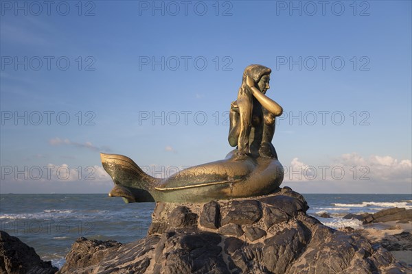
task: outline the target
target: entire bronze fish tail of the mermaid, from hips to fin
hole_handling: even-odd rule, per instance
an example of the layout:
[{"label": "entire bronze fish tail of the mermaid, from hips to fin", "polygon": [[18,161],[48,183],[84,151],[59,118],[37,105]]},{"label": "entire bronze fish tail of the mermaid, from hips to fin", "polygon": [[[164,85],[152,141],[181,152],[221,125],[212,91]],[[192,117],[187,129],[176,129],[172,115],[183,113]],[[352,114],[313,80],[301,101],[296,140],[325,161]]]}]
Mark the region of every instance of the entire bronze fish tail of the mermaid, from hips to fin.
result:
[{"label": "entire bronze fish tail of the mermaid, from hips to fin", "polygon": [[101,153],[104,169],[115,187],[109,196],[128,202],[165,201],[198,203],[267,195],[279,188],[284,177],[282,164],[275,158],[239,158],[236,150],[225,160],[192,166],[157,179],[142,171],[133,160]]}]

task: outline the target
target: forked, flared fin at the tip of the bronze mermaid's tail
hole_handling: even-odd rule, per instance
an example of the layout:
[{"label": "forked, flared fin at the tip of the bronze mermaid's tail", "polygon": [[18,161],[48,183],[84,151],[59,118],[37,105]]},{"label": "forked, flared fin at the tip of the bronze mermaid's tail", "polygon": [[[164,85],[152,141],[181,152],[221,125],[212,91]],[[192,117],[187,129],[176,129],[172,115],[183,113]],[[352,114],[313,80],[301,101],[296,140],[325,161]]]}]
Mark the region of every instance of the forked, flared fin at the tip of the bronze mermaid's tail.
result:
[{"label": "forked, flared fin at the tip of the bronze mermaid's tail", "polygon": [[108,194],[123,197],[126,203],[155,201],[155,187],[161,179],[146,174],[124,155],[100,153],[104,170],[111,176],[115,187]]}]

